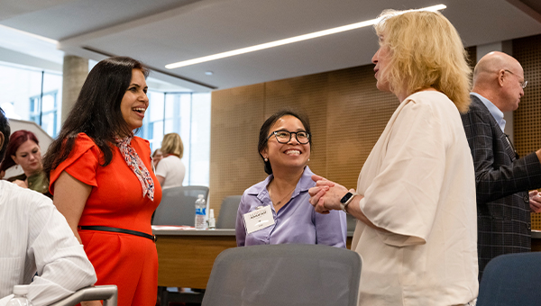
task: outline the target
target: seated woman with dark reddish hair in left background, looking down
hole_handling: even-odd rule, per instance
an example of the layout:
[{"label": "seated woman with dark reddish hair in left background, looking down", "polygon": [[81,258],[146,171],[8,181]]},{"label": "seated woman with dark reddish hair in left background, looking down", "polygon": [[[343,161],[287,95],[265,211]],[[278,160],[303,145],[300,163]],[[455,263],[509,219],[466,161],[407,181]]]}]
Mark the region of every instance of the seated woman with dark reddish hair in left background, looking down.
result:
[{"label": "seated woman with dark reddish hair in left background, looking down", "polygon": [[0,172],[5,172],[11,166],[19,165],[22,175],[6,178],[23,188],[29,188],[49,197],[49,179],[43,172],[41,163],[40,141],[30,130],[17,130],[9,138],[5,158],[0,164]]}]

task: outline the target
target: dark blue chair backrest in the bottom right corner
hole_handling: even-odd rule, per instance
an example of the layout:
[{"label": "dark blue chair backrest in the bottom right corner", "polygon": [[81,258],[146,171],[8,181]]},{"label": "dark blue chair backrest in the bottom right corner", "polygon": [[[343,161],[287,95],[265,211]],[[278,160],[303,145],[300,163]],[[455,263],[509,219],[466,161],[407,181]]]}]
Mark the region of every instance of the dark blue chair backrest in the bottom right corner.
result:
[{"label": "dark blue chair backrest in the bottom right corner", "polygon": [[501,255],[485,267],[477,306],[540,303],[541,252]]}]

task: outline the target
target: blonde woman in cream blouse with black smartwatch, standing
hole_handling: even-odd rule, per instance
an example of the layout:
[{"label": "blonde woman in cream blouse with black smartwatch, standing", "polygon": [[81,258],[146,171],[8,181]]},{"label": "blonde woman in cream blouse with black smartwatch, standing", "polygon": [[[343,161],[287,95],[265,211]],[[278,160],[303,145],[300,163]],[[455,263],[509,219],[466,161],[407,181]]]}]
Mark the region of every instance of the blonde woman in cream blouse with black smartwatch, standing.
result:
[{"label": "blonde woman in cream blouse with black smartwatch, standing", "polygon": [[357,190],[314,175],[310,202],[357,219],[360,305],[469,304],[479,284],[475,173],[459,113],[470,104],[462,41],[435,12],[384,12],[375,28],[377,87],[399,107]]}]

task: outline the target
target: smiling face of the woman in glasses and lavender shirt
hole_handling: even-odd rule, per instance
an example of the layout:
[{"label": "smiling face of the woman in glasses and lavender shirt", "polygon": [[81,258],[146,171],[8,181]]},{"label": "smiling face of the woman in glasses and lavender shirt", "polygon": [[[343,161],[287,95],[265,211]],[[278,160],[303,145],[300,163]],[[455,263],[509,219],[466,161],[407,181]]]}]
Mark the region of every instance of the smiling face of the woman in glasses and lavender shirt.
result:
[{"label": "smiling face of the woman in glasses and lavender shirt", "polygon": [[[269,135],[275,130],[299,131],[305,130],[304,125],[298,118],[285,115],[272,124]],[[298,171],[302,170],[307,165],[310,157],[310,144],[300,144],[295,137],[296,134],[291,134],[291,139],[288,143],[280,143],[274,135],[267,140],[267,146],[261,150],[261,156],[269,158],[272,166],[272,172],[280,171]]]}]

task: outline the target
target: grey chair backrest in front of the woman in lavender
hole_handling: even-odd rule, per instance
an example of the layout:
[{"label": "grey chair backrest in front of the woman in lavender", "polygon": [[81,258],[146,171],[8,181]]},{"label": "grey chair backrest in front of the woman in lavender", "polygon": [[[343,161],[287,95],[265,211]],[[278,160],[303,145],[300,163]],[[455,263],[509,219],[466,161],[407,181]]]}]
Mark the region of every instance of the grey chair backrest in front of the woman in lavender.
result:
[{"label": "grey chair backrest in front of the woman in lavender", "polygon": [[362,259],[324,245],[234,247],[220,253],[203,306],[357,305]]}]

